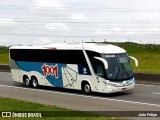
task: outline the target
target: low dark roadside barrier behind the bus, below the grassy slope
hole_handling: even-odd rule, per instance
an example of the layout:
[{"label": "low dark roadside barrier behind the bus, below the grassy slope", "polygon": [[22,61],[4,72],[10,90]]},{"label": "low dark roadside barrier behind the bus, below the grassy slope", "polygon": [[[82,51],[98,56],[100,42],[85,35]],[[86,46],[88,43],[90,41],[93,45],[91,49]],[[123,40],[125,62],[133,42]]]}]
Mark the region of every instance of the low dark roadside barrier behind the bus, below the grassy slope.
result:
[{"label": "low dark roadside barrier behind the bus, below the grassy slope", "polygon": [[[0,72],[10,72],[9,65],[0,65]],[[160,74],[135,73],[136,83],[160,85]]]}]

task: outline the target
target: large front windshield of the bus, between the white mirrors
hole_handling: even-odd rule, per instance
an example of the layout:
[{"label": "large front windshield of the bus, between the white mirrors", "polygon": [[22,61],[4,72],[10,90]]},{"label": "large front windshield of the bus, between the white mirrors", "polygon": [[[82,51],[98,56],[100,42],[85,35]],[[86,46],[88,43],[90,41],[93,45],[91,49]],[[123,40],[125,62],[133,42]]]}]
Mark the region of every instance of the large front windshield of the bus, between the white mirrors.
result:
[{"label": "large front windshield of the bus, between the white mirrors", "polygon": [[102,57],[108,62],[107,79],[120,81],[133,77],[132,65],[126,53],[103,54]]}]

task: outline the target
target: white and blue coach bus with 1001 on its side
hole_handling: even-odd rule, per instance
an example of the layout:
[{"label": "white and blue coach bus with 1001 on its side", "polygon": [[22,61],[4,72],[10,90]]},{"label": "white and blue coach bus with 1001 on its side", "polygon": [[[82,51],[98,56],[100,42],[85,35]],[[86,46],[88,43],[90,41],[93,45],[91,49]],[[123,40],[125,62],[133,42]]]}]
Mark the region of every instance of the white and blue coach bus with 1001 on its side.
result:
[{"label": "white and blue coach bus with 1001 on its side", "polygon": [[10,47],[13,81],[27,87],[52,86],[91,92],[115,93],[133,89],[134,73],[127,52],[98,43],[55,43]]}]

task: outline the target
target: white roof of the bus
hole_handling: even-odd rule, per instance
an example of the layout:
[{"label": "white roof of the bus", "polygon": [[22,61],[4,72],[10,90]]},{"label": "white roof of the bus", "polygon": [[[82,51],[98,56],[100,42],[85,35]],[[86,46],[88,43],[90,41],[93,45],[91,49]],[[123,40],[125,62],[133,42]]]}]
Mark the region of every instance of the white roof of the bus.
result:
[{"label": "white roof of the bus", "polygon": [[123,48],[102,43],[53,43],[50,45],[12,46],[10,49],[90,50],[98,53],[126,53]]}]

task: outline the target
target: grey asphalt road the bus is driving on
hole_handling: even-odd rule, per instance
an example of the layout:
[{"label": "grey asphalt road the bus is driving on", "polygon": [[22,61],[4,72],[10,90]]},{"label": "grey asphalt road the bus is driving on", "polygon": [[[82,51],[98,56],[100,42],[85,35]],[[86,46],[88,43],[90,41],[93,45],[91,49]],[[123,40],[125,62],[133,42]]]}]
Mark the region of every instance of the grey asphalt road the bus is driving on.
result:
[{"label": "grey asphalt road the bus is driving on", "polygon": [[[0,97],[14,98],[81,111],[154,111],[160,116],[160,86],[137,84],[135,89],[115,94],[84,95],[81,91],[14,83],[10,73],[0,72]],[[158,112],[159,111],[159,112]],[[128,112],[126,114],[133,114]],[[133,119],[143,119],[138,117]],[[124,116],[124,117],[127,117]],[[144,118],[146,120],[146,118]],[[151,119],[151,118],[148,118]],[[153,118],[152,118],[153,119]],[[154,118],[159,119],[159,118]]]}]

